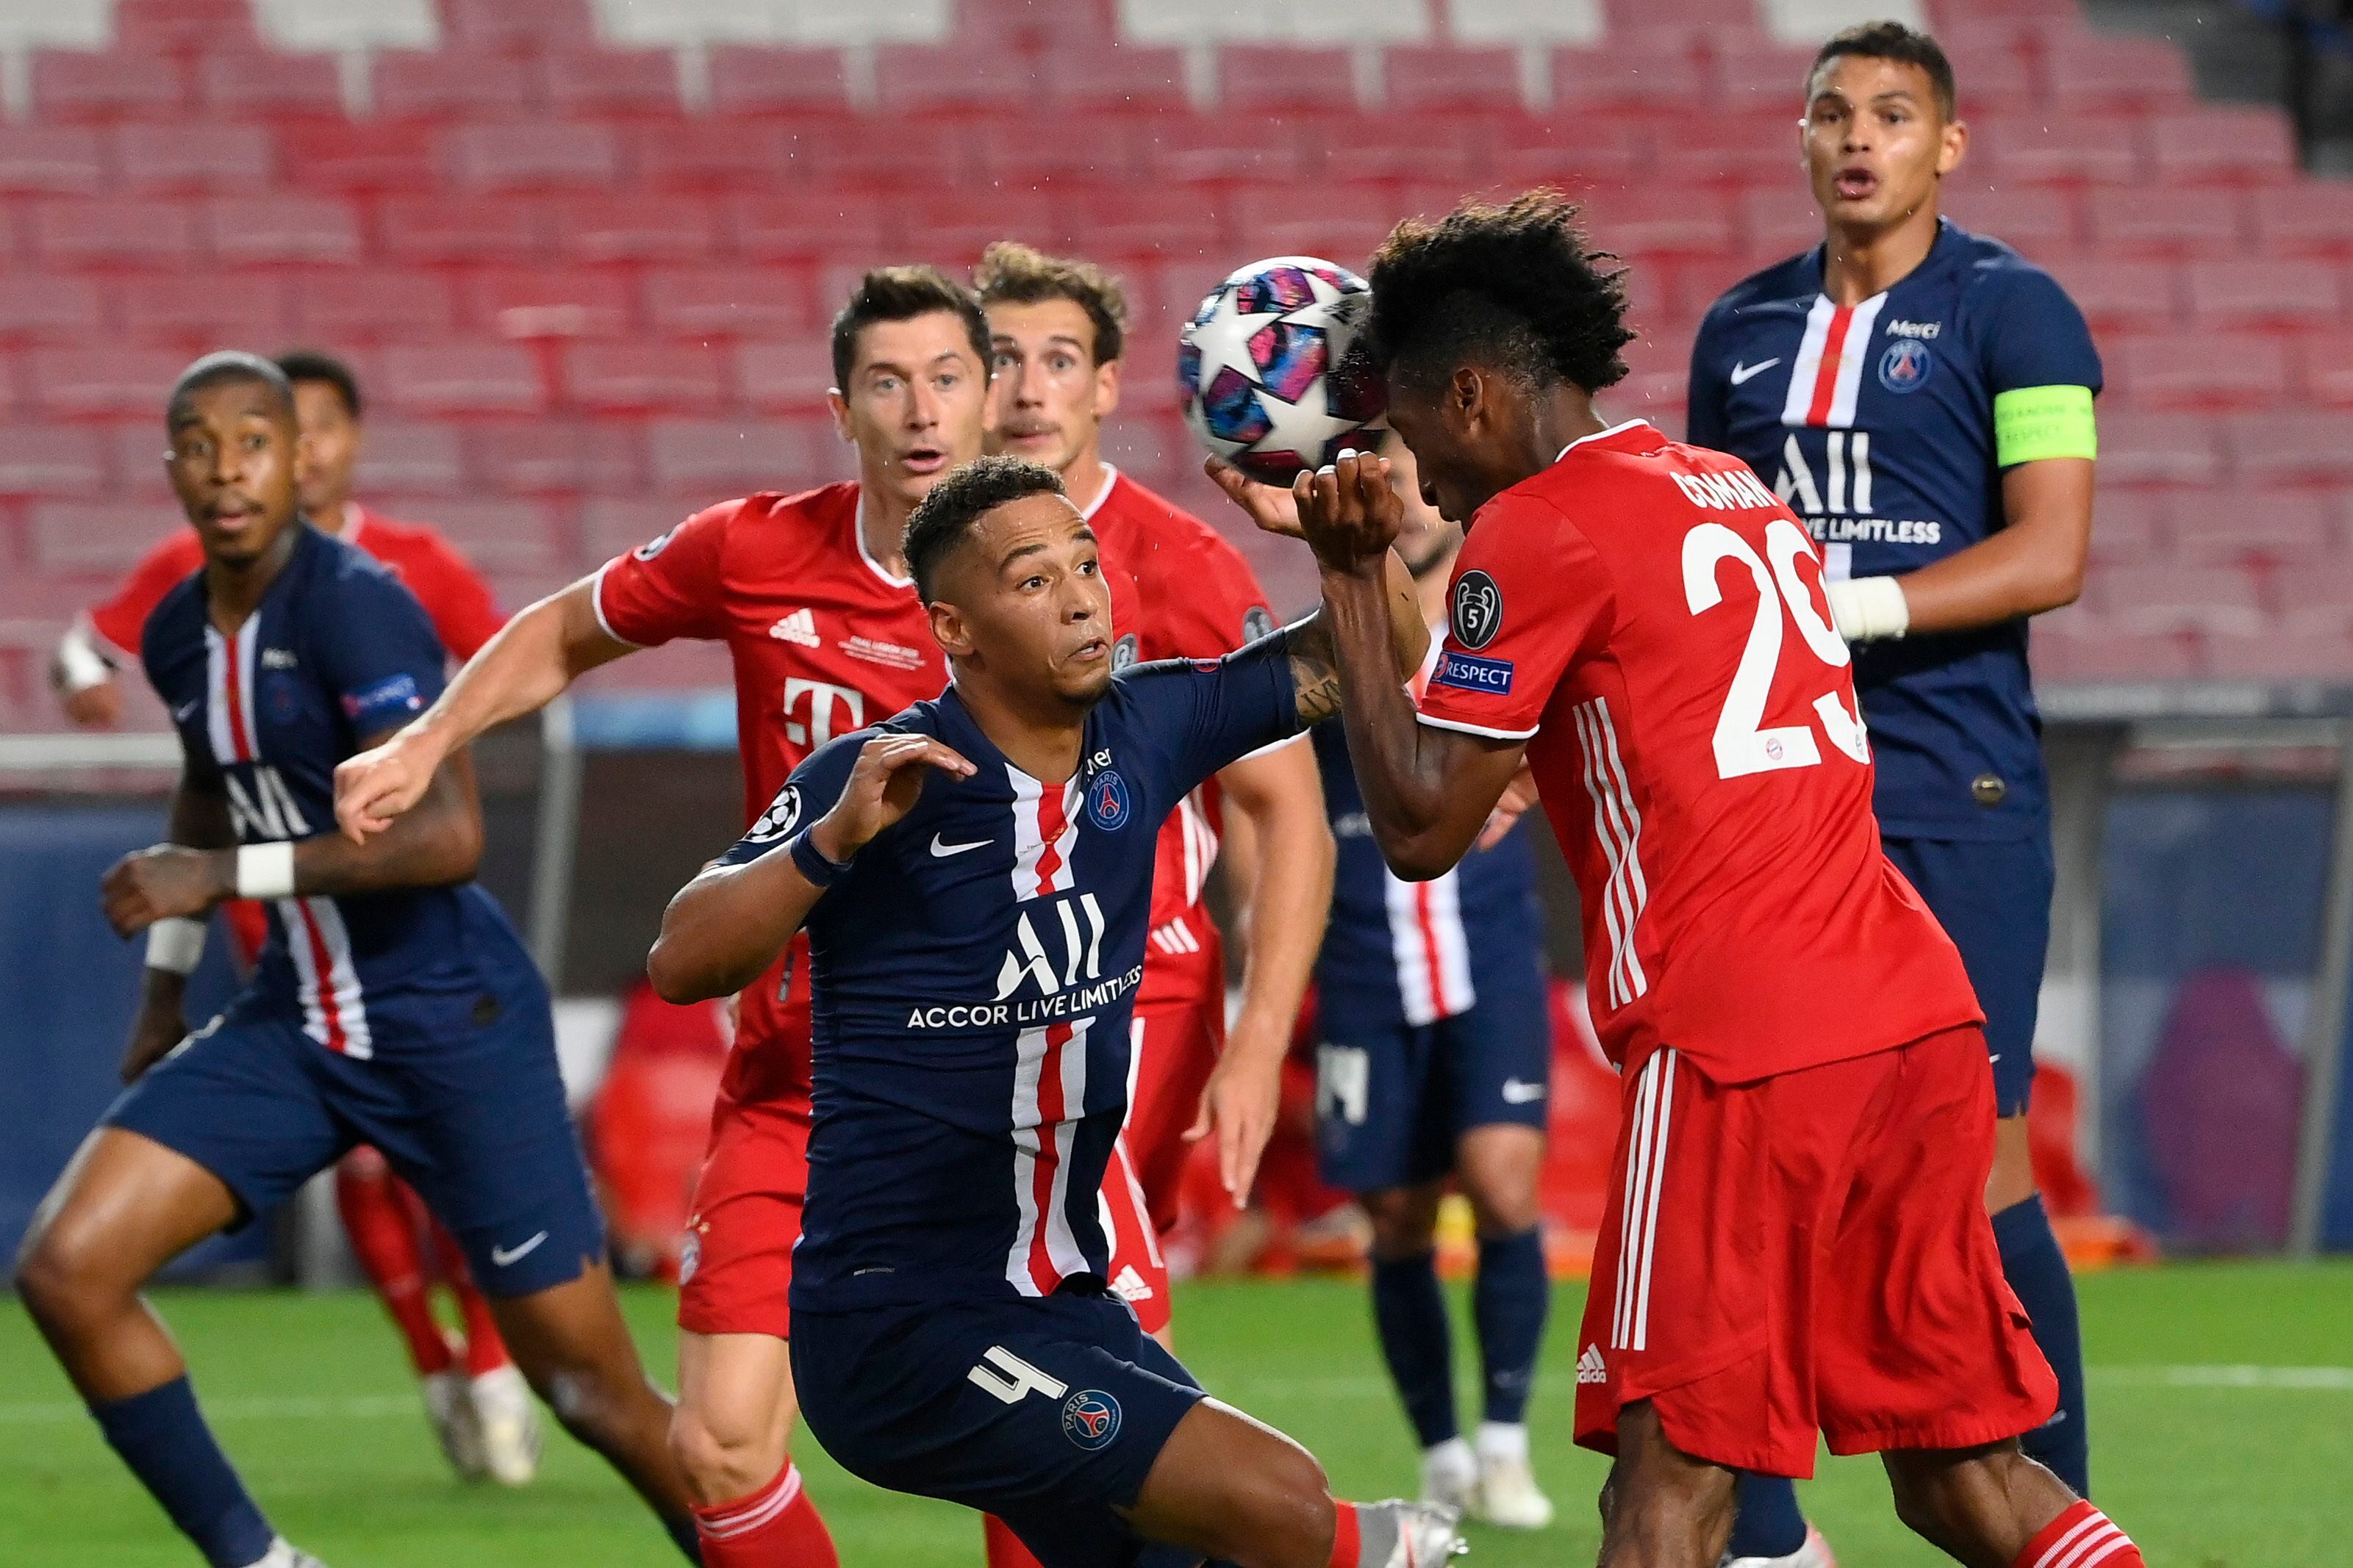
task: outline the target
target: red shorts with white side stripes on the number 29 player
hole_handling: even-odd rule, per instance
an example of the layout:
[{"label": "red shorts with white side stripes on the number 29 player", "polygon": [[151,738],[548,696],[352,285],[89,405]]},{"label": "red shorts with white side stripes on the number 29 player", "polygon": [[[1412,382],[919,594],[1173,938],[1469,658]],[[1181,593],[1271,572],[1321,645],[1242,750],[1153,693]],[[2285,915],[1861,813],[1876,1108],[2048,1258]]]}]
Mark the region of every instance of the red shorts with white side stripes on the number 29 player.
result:
[{"label": "red shorts with white side stripes on the number 29 player", "polygon": [[1652,1401],[1675,1448],[1774,1476],[1831,1453],[1967,1448],[2059,1385],[1986,1220],[1993,1072],[1977,1025],[1715,1084],[1680,1051],[1626,1079],[1577,1356],[1577,1441]]}]

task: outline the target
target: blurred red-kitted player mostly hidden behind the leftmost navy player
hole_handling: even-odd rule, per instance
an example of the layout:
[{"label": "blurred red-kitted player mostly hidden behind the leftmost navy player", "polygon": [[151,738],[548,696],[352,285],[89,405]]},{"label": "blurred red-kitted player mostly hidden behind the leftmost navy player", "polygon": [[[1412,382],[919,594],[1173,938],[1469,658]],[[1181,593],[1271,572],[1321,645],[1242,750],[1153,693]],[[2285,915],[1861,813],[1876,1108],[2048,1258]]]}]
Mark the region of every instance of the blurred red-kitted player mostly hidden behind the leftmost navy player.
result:
[{"label": "blurred red-kitted player mostly hidden behind the leftmost navy player", "polygon": [[[304,520],[384,562],[426,607],[442,646],[456,658],[499,630],[489,583],[431,527],[395,522],[351,498],[351,475],[365,447],[360,383],[341,360],[313,350],[278,355],[294,383],[301,421],[296,487]],[[59,642],[52,675],[66,717],[104,729],[122,715],[118,668],[136,663],[139,630],[155,604],[205,564],[193,529],[172,529],[132,567],[111,599],[82,611]],[[252,969],[268,922],[261,905],[221,907],[235,943],[240,976]],[[334,1206],[344,1215],[351,1253],[391,1314],[416,1371],[449,1465],[466,1479],[492,1476],[522,1486],[539,1469],[539,1415],[529,1389],[506,1354],[489,1302],[466,1274],[466,1258],[424,1201],[393,1175],[384,1157],[358,1147],[334,1168]],[[433,1312],[433,1288],[449,1291],[464,1331]]]}]

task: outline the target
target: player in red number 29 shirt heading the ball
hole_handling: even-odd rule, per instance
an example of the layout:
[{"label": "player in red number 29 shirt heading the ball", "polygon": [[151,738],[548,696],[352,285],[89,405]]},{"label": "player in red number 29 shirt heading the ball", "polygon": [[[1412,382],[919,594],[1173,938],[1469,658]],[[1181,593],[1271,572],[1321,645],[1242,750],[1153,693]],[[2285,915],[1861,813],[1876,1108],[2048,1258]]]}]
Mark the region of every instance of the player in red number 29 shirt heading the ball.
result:
[{"label": "player in red number 29 shirt heading the ball", "polygon": [[1372,263],[1391,423],[1471,527],[1419,715],[1388,663],[1386,465],[1297,508],[1391,867],[1454,865],[1525,752],[1584,893],[1626,1079],[1577,1359],[1577,1439],[1617,1455],[1600,1561],[1713,1566],[1734,1469],[1812,1474],[1826,1434],[1878,1450],[1960,1561],[2139,1566],[2017,1443],[2057,1382],[1984,1211],[1981,1013],[1880,851],[1821,562],[1739,458],[1595,416],[1633,334],[1574,212],[1466,205]]}]

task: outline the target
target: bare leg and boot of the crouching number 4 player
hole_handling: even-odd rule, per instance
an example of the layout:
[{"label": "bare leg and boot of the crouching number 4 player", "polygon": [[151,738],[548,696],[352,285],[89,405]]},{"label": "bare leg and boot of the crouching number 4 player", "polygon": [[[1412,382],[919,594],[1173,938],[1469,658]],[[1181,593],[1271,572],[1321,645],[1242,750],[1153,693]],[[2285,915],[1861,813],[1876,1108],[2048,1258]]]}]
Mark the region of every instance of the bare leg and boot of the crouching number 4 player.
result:
[{"label": "bare leg and boot of the crouching number 4 player", "polygon": [[1214,1399],[1176,1422],[1127,1519],[1235,1568],[1435,1568],[1457,1544],[1454,1509],[1339,1502],[1315,1455]]}]

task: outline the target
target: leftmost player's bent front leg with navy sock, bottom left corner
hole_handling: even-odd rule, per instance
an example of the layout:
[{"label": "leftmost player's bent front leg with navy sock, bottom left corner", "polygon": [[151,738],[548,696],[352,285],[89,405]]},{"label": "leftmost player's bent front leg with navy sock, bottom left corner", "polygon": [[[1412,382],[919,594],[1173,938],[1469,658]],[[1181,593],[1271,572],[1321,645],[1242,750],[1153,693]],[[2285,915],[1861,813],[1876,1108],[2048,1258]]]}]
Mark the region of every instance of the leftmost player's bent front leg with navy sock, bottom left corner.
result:
[{"label": "leftmost player's bent front leg with navy sock, bottom left corner", "polygon": [[308,1563],[275,1537],[188,1389],[172,1333],[139,1298],[165,1262],[238,1218],[212,1171],[99,1128],[42,1199],[16,1293],[106,1441],[214,1563]]}]

